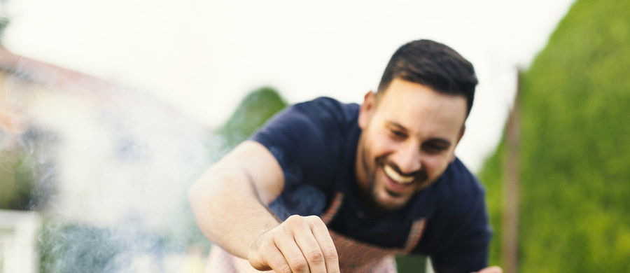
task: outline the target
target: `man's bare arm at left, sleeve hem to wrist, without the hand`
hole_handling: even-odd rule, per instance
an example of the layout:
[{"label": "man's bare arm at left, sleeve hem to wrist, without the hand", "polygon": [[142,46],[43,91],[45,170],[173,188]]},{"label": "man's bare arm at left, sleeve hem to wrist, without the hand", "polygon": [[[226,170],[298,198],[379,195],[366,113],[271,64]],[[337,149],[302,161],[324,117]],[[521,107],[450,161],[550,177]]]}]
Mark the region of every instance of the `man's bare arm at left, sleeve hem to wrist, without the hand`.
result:
[{"label": "man's bare arm at left, sleeve hem to wrist, without the hand", "polygon": [[207,169],[188,193],[204,235],[241,258],[255,237],[279,225],[264,204],[279,195],[283,174],[265,151],[254,142],[241,144]]}]

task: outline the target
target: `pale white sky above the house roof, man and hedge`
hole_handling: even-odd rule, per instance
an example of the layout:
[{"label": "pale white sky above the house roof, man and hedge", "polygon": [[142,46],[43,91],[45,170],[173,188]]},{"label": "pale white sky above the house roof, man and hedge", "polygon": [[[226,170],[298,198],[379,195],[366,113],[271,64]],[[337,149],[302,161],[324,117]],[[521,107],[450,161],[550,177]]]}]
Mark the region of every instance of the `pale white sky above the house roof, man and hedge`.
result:
[{"label": "pale white sky above the house roof, man and hedge", "polygon": [[251,90],[289,103],[362,102],[391,54],[429,38],[469,59],[479,85],[456,154],[473,172],[500,140],[517,69],[572,0],[8,0],[12,52],[113,80],[217,127]]}]

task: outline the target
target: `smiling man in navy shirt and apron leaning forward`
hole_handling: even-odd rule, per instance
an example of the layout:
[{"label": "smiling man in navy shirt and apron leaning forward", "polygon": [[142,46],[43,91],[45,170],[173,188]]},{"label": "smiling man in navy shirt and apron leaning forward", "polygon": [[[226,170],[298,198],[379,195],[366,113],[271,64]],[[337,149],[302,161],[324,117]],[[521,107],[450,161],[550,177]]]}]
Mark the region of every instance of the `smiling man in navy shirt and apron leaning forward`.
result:
[{"label": "smiling man in navy shirt and apron leaning forward", "polygon": [[437,272],[486,267],[484,190],[454,155],[475,85],[457,52],[413,41],[360,106],[275,116],[190,188],[209,271],[395,272],[393,255],[413,254]]}]

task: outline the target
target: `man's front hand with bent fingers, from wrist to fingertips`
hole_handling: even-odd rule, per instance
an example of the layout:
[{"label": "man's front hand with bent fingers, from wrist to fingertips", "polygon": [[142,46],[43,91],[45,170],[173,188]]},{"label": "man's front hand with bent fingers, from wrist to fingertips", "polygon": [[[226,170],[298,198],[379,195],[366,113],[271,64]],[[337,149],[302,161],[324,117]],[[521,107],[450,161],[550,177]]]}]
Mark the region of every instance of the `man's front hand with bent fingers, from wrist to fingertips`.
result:
[{"label": "man's front hand with bent fingers, from wrist to fingertips", "polygon": [[255,269],[339,273],[339,257],[328,228],[317,216],[290,216],[255,239],[247,255]]}]

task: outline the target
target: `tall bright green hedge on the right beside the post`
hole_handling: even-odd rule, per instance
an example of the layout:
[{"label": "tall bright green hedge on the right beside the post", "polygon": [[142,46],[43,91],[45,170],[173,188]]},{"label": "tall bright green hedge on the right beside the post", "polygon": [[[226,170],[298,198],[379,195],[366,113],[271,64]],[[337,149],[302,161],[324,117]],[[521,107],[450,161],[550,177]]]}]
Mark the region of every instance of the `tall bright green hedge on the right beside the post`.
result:
[{"label": "tall bright green hedge on the right beside the post", "polygon": [[627,67],[630,2],[578,0],[524,74],[519,271],[630,272]]}]

